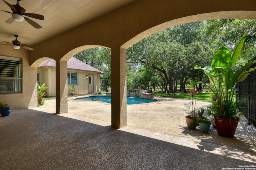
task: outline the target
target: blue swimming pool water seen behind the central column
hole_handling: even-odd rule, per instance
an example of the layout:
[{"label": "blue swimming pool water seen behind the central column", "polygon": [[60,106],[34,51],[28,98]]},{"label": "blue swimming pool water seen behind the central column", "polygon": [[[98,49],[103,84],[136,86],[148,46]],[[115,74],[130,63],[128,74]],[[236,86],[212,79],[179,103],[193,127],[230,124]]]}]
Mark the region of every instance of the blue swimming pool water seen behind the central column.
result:
[{"label": "blue swimming pool water seen behind the central column", "polygon": [[[111,97],[110,96],[90,96],[86,98],[78,98],[75,100],[90,100],[90,101],[100,101],[106,102],[111,104]],[[156,102],[156,100],[149,100],[149,99],[142,99],[137,97],[127,97],[127,104],[143,104],[143,103],[150,103]]]}]

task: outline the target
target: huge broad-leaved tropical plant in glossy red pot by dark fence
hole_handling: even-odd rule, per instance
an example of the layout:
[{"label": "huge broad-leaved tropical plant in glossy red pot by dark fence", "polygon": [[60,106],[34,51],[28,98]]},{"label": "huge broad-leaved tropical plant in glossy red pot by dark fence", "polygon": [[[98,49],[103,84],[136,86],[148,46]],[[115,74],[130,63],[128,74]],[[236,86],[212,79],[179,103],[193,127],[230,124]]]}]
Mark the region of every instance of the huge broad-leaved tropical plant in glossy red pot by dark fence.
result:
[{"label": "huge broad-leaved tropical plant in glossy red pot by dark fence", "polygon": [[218,135],[224,137],[234,137],[239,117],[243,114],[239,111],[243,101],[236,101],[236,87],[238,82],[242,82],[250,74],[256,70],[256,67],[250,68],[256,60],[248,61],[244,66],[241,66],[236,72],[231,71],[231,66],[236,64],[238,56],[244,45],[247,35],[244,34],[232,54],[222,46],[214,54],[211,66],[200,68],[195,66],[195,69],[202,69],[210,80],[210,85],[207,85],[211,92],[216,97],[216,102],[212,103],[210,109],[214,116]]}]

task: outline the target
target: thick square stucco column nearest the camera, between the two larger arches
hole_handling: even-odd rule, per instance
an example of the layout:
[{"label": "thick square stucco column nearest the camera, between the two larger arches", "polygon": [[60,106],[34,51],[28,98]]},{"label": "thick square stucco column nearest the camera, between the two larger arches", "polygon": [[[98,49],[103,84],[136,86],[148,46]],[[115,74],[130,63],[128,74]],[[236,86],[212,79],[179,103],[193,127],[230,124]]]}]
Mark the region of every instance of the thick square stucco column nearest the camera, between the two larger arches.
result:
[{"label": "thick square stucco column nearest the camera, between the two larger arches", "polygon": [[127,124],[126,115],[126,49],[111,49],[111,127]]}]

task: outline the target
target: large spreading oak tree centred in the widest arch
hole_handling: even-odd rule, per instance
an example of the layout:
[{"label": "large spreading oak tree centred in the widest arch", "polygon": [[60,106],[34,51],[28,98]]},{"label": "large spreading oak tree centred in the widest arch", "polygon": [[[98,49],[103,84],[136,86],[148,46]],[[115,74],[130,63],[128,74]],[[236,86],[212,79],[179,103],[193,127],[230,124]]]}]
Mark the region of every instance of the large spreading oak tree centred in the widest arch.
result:
[{"label": "large spreading oak tree centred in the widest arch", "polygon": [[158,70],[169,85],[169,94],[175,94],[178,80],[185,87],[189,76],[184,74],[186,70],[197,63],[211,62],[208,56],[213,50],[203,26],[204,22],[195,22],[165,29],[134,44],[127,55],[134,63]]}]

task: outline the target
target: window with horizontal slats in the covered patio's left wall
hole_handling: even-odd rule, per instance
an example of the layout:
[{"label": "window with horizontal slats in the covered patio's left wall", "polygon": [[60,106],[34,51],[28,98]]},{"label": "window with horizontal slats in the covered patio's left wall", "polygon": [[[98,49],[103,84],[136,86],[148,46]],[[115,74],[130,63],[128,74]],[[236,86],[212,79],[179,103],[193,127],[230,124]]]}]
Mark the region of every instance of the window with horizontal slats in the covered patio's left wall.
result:
[{"label": "window with horizontal slats in the covered patio's left wall", "polygon": [[22,59],[0,55],[0,94],[22,93]]}]

